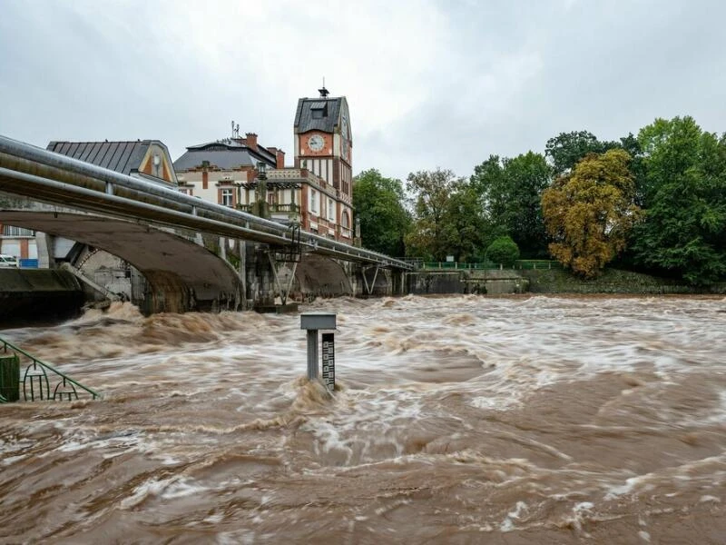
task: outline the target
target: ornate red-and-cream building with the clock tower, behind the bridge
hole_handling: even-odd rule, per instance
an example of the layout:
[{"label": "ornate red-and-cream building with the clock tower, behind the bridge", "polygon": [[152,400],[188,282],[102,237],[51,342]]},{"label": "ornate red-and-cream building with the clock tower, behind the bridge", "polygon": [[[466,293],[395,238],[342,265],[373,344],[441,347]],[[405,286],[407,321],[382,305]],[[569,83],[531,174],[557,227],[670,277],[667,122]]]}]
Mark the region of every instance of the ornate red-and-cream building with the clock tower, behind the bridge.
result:
[{"label": "ornate red-and-cream building with the clock tower, behind the bridge", "polygon": [[[212,203],[252,212],[264,201],[270,218],[299,223],[312,233],[352,242],[352,138],[345,97],[300,98],[295,114],[295,166],[285,153],[264,147],[258,135],[187,148],[174,162],[180,191]],[[260,163],[265,167],[264,183]],[[264,194],[260,194],[260,192]]]}]

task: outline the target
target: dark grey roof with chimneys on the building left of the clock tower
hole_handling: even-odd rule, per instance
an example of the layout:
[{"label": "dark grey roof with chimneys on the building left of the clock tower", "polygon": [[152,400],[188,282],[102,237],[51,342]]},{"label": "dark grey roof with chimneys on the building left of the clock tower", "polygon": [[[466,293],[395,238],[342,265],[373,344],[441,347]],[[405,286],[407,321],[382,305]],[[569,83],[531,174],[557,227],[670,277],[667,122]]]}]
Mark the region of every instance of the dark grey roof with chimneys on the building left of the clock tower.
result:
[{"label": "dark grey roof with chimneys on the building left of the clock tower", "polygon": [[258,146],[255,150],[230,139],[188,147],[187,151],[174,161],[174,170],[180,172],[197,168],[204,161],[209,161],[210,165],[222,170],[236,170],[243,166],[256,166],[260,161],[274,167],[277,158],[266,148]]}]

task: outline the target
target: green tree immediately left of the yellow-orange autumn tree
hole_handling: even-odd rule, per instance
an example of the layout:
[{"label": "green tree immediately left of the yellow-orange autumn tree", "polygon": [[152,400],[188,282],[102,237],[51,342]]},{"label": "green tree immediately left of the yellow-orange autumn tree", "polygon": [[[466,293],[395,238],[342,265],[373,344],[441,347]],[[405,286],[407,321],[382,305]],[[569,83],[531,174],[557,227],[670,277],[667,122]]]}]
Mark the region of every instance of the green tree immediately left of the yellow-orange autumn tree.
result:
[{"label": "green tree immediately left of the yellow-orange autumn tree", "polygon": [[528,152],[514,158],[491,155],[475,167],[471,184],[479,193],[488,233],[509,234],[530,257],[546,253],[541,197],[550,183],[544,156]]}]

